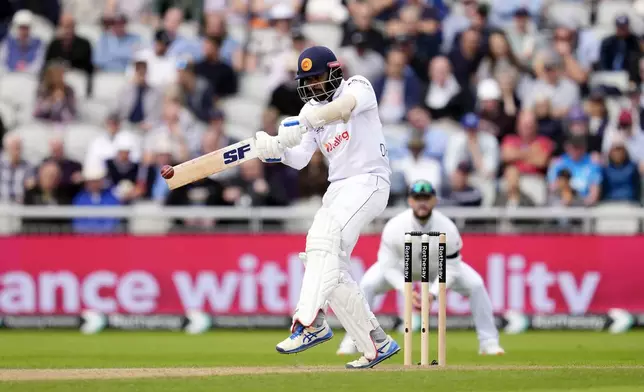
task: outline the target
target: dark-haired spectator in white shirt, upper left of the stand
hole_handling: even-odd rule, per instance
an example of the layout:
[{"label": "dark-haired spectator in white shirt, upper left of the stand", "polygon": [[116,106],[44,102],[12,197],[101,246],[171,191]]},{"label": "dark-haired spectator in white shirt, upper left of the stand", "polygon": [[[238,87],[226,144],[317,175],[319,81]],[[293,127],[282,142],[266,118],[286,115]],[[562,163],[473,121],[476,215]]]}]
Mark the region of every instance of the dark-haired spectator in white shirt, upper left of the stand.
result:
[{"label": "dark-haired spectator in white shirt, upper left of the stand", "polygon": [[126,76],[132,78],[136,65],[144,62],[146,67],[147,84],[153,88],[165,88],[177,80],[177,59],[168,54],[170,36],[165,30],[154,33],[153,49],[144,49],[134,55],[134,62],[126,71]]}]

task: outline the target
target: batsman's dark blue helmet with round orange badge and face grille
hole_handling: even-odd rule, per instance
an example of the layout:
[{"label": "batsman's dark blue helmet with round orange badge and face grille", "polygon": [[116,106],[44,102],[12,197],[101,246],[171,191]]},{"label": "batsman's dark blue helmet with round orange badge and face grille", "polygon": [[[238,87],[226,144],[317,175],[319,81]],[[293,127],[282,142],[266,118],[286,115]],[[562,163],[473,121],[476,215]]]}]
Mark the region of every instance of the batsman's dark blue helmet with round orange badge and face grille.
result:
[{"label": "batsman's dark blue helmet with round orange badge and face grille", "polygon": [[[322,75],[327,75],[326,80],[319,80]],[[304,103],[311,99],[328,101],[340,87],[343,78],[342,65],[326,46],[307,48],[297,60],[297,93]]]}]

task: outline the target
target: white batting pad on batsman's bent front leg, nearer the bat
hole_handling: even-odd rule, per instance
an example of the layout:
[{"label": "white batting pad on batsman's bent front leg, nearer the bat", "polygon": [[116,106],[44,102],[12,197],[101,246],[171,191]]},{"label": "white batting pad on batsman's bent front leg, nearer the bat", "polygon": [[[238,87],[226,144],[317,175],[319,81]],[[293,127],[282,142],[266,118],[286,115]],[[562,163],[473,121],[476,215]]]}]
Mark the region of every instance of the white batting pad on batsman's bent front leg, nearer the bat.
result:
[{"label": "white batting pad on batsman's bent front leg, nearer the bat", "polygon": [[296,321],[305,327],[313,324],[318,312],[325,308],[329,295],[338,286],[341,229],[327,208],[321,208],[315,215],[306,237],[306,268],[293,325]]}]

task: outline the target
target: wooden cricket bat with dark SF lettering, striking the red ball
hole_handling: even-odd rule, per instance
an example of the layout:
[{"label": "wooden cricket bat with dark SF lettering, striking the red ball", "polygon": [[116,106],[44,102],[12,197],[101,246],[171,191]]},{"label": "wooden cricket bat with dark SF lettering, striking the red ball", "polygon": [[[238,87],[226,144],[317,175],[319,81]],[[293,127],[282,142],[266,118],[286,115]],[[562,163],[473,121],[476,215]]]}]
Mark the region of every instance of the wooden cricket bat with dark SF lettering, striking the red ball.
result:
[{"label": "wooden cricket bat with dark SF lettering, striking the red ball", "polygon": [[[284,126],[294,125],[299,125],[299,122],[290,121],[284,124]],[[173,166],[174,174],[171,178],[166,178],[165,182],[171,190],[177,189],[254,158],[257,158],[257,150],[255,138],[251,137]]]}]

